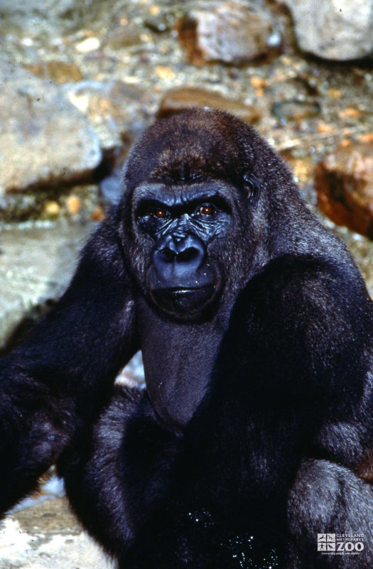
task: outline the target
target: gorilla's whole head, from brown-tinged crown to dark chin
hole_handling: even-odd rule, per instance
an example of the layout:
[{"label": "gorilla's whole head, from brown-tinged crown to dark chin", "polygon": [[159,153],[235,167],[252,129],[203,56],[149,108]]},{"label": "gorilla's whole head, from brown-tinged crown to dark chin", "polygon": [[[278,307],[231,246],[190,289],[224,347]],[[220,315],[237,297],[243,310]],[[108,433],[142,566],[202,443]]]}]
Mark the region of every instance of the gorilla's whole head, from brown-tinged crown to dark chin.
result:
[{"label": "gorilla's whole head, from brown-tinged crown to dark chin", "polygon": [[209,318],[247,282],[266,244],[261,202],[268,199],[259,200],[269,185],[266,161],[276,172],[266,143],[223,112],[161,119],[136,144],[124,173],[121,231],[131,274],[156,310]]}]

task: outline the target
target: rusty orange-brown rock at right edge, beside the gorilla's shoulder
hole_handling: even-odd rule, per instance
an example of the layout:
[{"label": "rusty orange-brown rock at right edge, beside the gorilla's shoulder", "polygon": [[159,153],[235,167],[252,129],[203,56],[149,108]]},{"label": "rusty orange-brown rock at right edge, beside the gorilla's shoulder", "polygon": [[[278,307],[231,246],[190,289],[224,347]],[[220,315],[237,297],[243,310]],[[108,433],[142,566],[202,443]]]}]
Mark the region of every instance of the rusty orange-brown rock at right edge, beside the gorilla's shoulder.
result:
[{"label": "rusty orange-brown rock at right edge, beside the gorilla's shoulder", "polygon": [[373,239],[373,142],[337,148],[315,170],[318,205],[331,220]]}]

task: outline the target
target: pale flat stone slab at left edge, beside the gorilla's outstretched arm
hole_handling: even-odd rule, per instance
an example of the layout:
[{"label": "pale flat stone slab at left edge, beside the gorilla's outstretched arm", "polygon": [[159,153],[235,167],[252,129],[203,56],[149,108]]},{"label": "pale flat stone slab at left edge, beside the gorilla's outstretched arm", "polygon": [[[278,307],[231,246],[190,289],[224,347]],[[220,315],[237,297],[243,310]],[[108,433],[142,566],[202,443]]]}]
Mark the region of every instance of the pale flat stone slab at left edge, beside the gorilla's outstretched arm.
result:
[{"label": "pale flat stone slab at left edge, beside the gorilla's outstretched arm", "polygon": [[0,232],[0,349],[65,290],[92,226],[50,225]]}]

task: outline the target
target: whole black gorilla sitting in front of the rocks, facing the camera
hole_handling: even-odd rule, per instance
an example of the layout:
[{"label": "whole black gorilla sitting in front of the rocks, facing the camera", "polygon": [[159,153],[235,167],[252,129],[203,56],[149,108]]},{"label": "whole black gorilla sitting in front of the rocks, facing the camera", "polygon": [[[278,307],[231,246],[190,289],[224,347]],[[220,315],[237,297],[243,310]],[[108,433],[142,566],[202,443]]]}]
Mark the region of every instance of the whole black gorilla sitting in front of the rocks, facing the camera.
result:
[{"label": "whole black gorilla sitting in front of the rocks, facing the camera", "polygon": [[[56,463],[121,569],[372,567],[373,307],[347,249],[225,112],[157,121],[123,188],[0,364],[1,512]],[[146,389],[114,385],[139,349]]]}]

